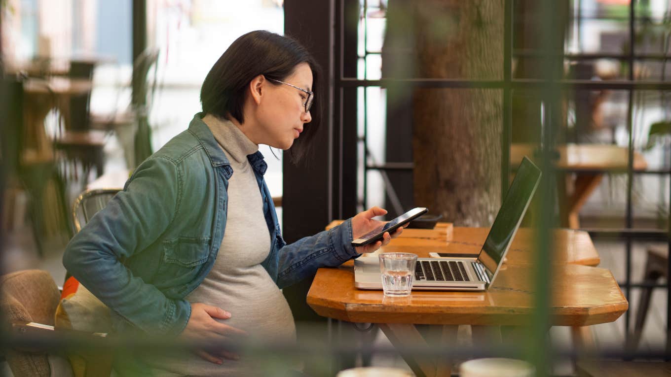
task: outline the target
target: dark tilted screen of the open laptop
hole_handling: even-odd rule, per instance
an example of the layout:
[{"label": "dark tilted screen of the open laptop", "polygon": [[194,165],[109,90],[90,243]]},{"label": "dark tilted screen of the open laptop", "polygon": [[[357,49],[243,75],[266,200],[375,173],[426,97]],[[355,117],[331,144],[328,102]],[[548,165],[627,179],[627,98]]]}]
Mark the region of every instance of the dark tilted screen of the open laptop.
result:
[{"label": "dark tilted screen of the open laptop", "polygon": [[478,256],[478,261],[486,267],[490,280],[493,280],[511,244],[513,235],[527,211],[540,176],[540,169],[528,158],[523,158]]}]

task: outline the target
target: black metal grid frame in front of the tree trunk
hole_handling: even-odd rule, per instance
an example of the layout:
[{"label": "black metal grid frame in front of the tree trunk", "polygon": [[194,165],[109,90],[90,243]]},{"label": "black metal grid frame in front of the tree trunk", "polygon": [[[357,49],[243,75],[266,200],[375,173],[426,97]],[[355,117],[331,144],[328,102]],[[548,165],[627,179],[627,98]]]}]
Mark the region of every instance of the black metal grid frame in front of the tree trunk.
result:
[{"label": "black metal grid frame in front of the tree trunk", "polygon": [[[340,23],[337,21],[335,23],[336,35],[338,32],[342,33],[344,28],[342,19],[344,19],[344,0],[335,0],[335,19],[340,20]],[[365,3],[364,3],[365,4]],[[632,283],[631,282],[631,244],[633,239],[658,239],[665,240],[668,242],[668,246],[671,250],[671,237],[670,232],[668,231],[657,231],[650,229],[632,229],[633,216],[632,216],[632,207],[631,207],[631,195],[632,195],[632,184],[633,184],[633,174],[663,174],[667,175],[671,173],[669,169],[662,170],[648,170],[648,171],[634,171],[633,170],[633,92],[634,91],[671,91],[671,82],[659,82],[659,81],[643,81],[634,80],[633,76],[633,62],[635,60],[666,60],[671,58],[666,54],[635,54],[635,2],[631,1],[629,4],[629,50],[627,54],[556,54],[550,50],[544,50],[540,53],[531,52],[526,50],[515,50],[512,49],[512,30],[513,30],[513,0],[505,0],[505,22],[504,22],[504,61],[503,61],[503,80],[466,80],[466,79],[440,79],[440,78],[406,78],[406,79],[392,79],[392,78],[382,78],[380,80],[360,80],[357,78],[347,77],[342,74],[342,59],[335,60],[338,64],[334,67],[335,73],[335,92],[342,93],[342,89],[345,87],[388,87],[393,83],[401,83],[407,85],[408,87],[430,87],[430,88],[481,88],[481,89],[502,89],[503,90],[503,132],[501,135],[501,150],[503,151],[501,158],[501,195],[505,195],[508,187],[508,174],[505,174],[510,171],[510,146],[511,146],[511,93],[515,89],[543,89],[544,86],[548,85],[548,80],[540,80],[533,78],[512,78],[511,76],[511,62],[513,54],[515,56],[538,56],[538,58],[568,58],[569,60],[592,60],[597,58],[612,58],[617,60],[626,60],[629,62],[629,72],[627,73],[627,80],[609,80],[605,82],[598,82],[593,80],[552,80],[552,88],[556,91],[561,91],[564,89],[615,89],[615,90],[624,90],[628,93],[628,109],[627,109],[627,131],[629,133],[629,155],[627,163],[627,205],[626,205],[626,215],[625,215],[625,228],[623,229],[590,229],[590,235],[593,237],[600,237],[607,235],[609,237],[618,237],[619,239],[624,239],[626,242],[626,278],[624,282],[621,282],[621,286],[625,289],[625,294],[627,298],[631,297],[631,288],[639,288],[644,286],[651,286],[651,284],[646,283]],[[545,5],[546,7],[551,7],[550,4]],[[364,12],[366,8],[364,5]],[[580,22],[580,19],[577,20]],[[335,55],[342,56],[342,40],[335,40]],[[340,65],[340,68],[339,68]],[[365,91],[364,91],[365,93]],[[364,101],[365,103],[365,101]],[[335,102],[336,106],[334,107],[334,122],[336,128],[344,129],[346,125],[342,123],[342,116],[338,115],[338,111],[342,114],[342,107],[339,102]],[[364,117],[365,119],[365,117]],[[552,122],[550,117],[547,118],[548,121]],[[356,126],[355,126],[356,127]],[[363,142],[366,142],[364,137]],[[365,151],[365,148],[364,148]],[[408,163],[389,163],[389,164],[367,164],[366,152],[364,152],[364,180],[366,179],[367,170],[412,170],[413,164]],[[671,162],[669,162],[671,166]],[[570,170],[566,170],[570,172]],[[365,184],[364,184],[365,186]],[[670,189],[671,191],[671,189]],[[365,189],[364,189],[365,195]],[[365,199],[364,199],[365,205]],[[670,203],[670,218],[668,221],[669,226],[671,227],[671,203]],[[669,259],[668,269],[671,271],[671,258]],[[666,333],[666,358],[671,360],[671,289],[669,282],[666,285],[664,284],[652,284],[654,287],[666,287],[668,303],[667,303],[667,333]],[[631,322],[631,315],[629,311],[625,313],[625,343],[629,339],[629,327]]]}]

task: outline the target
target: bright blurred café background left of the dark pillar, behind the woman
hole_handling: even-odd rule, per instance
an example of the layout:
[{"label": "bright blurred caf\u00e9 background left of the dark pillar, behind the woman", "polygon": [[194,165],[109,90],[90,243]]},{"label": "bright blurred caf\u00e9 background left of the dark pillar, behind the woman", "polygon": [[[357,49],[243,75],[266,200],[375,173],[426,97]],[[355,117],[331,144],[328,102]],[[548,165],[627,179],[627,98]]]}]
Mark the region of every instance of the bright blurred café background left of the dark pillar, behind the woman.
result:
[{"label": "bright blurred caf\u00e9 background left of the dark pillar, behind the woman", "polygon": [[[200,111],[205,74],[233,40],[284,28],[281,1],[142,3],[138,26],[130,0],[2,2],[3,70],[21,82],[5,92],[13,101],[5,114],[23,106],[22,127],[3,122],[20,167],[3,202],[5,268],[53,258],[50,270],[62,280],[57,250],[72,234],[77,195],[122,187],[137,164],[186,129]],[[268,185],[281,196],[282,153],[276,160],[263,152]]]}]

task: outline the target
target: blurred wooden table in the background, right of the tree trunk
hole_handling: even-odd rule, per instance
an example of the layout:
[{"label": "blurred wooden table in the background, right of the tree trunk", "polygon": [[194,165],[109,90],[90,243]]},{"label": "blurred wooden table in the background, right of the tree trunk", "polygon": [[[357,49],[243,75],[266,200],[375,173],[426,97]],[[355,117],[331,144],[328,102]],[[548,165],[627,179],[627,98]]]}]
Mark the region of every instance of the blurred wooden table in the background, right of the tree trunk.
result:
[{"label": "blurred wooden table in the background, right of the tree trunk", "polygon": [[[535,146],[513,144],[511,164],[517,166],[523,156],[534,160]],[[626,172],[629,165],[629,150],[625,147],[606,144],[566,144],[557,148],[559,154],[558,196],[562,227],[578,229],[578,213],[597,189],[606,172]],[[633,152],[633,169],[646,170],[648,164],[639,153]],[[564,171],[566,170],[566,171]],[[573,176],[572,174],[575,174]]]}]

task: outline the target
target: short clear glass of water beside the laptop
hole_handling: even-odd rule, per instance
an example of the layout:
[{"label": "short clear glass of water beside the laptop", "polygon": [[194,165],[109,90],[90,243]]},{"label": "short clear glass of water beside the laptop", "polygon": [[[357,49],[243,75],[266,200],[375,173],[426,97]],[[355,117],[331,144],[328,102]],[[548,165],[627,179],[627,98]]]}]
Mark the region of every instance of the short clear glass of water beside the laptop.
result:
[{"label": "short clear glass of water beside the laptop", "polygon": [[413,288],[417,254],[380,254],[380,275],[385,296],[408,296]]}]

